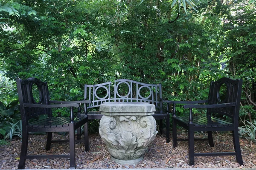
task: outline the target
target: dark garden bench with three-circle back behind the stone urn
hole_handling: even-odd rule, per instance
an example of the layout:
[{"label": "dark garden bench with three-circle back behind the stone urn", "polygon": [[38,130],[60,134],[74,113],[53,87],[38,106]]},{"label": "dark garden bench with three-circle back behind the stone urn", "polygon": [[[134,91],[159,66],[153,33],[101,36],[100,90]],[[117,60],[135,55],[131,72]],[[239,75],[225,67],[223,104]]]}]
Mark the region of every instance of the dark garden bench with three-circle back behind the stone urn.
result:
[{"label": "dark garden bench with three-circle back behind the stone urn", "polygon": [[[129,79],[118,79],[96,85],[84,85],[84,100],[92,103],[87,107],[88,120],[101,119],[99,106],[103,102],[148,102],[156,106],[154,119],[159,120],[162,133],[163,120],[166,120],[166,142],[169,142],[169,113],[163,111],[162,85],[145,84]],[[98,111],[89,111],[89,110]],[[88,123],[85,124],[85,137],[88,137]]]}]

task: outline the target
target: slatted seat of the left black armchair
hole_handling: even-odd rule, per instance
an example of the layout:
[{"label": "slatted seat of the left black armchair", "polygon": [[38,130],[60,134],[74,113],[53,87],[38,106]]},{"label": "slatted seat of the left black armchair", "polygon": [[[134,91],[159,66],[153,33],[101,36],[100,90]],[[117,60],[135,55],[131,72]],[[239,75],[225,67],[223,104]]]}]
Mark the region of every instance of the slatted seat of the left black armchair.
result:
[{"label": "slatted seat of the left black armchair", "polygon": [[[74,123],[78,123],[85,119],[85,117],[82,117],[81,120],[75,120]],[[27,127],[68,127],[70,124],[70,118],[69,117],[48,117],[46,119],[38,120],[35,122],[29,123]]]}]

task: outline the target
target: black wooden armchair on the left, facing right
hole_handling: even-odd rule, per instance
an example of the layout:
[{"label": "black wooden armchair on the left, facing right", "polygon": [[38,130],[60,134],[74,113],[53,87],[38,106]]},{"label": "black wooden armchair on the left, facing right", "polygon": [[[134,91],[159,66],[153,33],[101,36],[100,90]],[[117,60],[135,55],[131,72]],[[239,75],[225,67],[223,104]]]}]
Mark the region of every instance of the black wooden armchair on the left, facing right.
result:
[{"label": "black wooden armchair on the left, facing right", "polygon": [[[35,102],[32,88],[38,88],[39,101]],[[85,151],[89,151],[88,139],[75,141],[75,130],[80,129],[82,125],[87,123],[88,117],[80,117],[74,119],[73,108],[81,111],[81,103],[91,103],[90,101],[50,101],[47,82],[42,82],[36,78],[19,79],[17,78],[17,90],[20,102],[20,113],[22,120],[22,144],[20,152],[20,162],[18,169],[25,168],[26,159],[46,159],[46,158],[70,158],[70,168],[76,168],[75,142],[84,142]],[[56,105],[52,105],[56,104]],[[52,108],[70,107],[70,117],[52,117]],[[85,105],[86,107],[86,105]],[[87,111],[87,108],[85,108]],[[80,114],[80,113],[79,113]],[[29,122],[29,119],[36,118],[39,115],[48,115],[47,118]],[[70,155],[27,155],[29,132],[47,132],[46,150],[50,149],[53,142],[69,142]],[[52,132],[69,132],[69,140],[53,141]]]}]

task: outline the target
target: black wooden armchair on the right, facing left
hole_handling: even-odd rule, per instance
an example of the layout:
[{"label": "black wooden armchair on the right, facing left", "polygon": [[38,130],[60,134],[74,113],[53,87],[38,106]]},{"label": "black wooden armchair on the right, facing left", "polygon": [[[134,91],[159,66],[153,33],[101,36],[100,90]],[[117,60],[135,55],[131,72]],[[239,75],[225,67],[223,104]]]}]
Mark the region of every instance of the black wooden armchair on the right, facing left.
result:
[{"label": "black wooden armchair on the right, facing left", "polygon": [[[235,155],[236,160],[240,165],[243,165],[241,150],[239,145],[239,106],[242,90],[242,79],[233,80],[229,78],[221,78],[218,81],[211,82],[209,89],[208,100],[183,102],[183,101],[169,101],[173,104],[172,113],[172,141],[173,147],[177,147],[177,141],[189,142],[189,165],[194,165],[195,156],[227,156]],[[220,89],[225,89],[221,91]],[[225,93],[224,93],[225,92]],[[199,103],[208,103],[208,105],[198,105]],[[189,117],[176,115],[176,104],[186,104],[183,107],[189,108]],[[206,108],[206,116],[193,116],[192,108]],[[225,115],[231,118],[230,121],[222,119]],[[177,139],[177,125],[188,130],[188,139]],[[214,146],[212,139],[212,131],[232,131],[233,143],[235,152],[221,152],[221,153],[195,153],[194,139],[195,131],[207,131],[209,145]]]}]

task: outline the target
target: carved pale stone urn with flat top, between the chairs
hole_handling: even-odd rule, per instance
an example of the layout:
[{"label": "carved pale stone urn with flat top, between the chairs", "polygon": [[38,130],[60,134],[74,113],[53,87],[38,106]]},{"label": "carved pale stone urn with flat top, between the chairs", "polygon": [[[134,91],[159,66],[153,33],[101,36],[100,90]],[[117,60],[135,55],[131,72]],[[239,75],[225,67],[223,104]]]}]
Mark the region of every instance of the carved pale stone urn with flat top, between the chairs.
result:
[{"label": "carved pale stone urn with flat top, between the chairs", "polygon": [[99,134],[112,160],[136,164],[143,159],[157,134],[154,111],[155,105],[142,102],[105,102],[100,106],[104,116],[99,123]]}]

